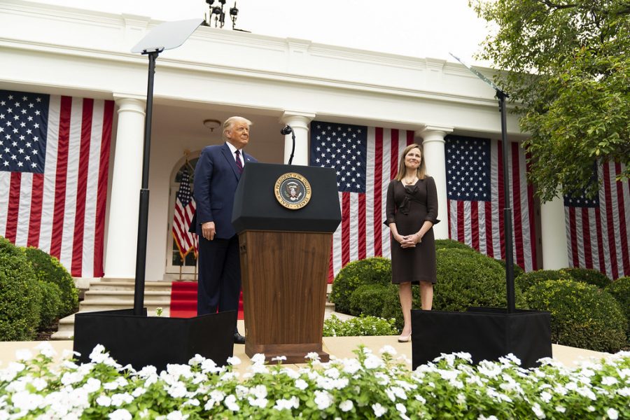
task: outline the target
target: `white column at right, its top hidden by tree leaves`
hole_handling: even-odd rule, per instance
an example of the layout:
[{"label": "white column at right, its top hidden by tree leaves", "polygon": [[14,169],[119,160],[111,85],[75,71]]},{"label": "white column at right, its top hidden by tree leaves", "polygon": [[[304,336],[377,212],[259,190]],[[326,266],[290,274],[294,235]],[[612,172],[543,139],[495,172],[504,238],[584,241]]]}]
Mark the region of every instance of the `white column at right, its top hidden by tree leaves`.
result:
[{"label": "white column at right, its top hidden by tree leaves", "polygon": [[554,200],[540,205],[540,228],[542,232],[542,268],[568,267],[562,197],[555,197]]}]

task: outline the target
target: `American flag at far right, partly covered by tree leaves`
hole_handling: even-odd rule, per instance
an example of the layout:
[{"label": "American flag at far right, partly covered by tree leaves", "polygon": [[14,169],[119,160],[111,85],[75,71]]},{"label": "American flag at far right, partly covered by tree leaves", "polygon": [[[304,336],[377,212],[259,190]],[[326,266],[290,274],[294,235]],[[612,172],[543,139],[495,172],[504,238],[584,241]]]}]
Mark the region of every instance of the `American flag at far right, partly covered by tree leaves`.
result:
[{"label": "American flag at far right, partly covered by tree leaves", "polygon": [[630,183],[617,182],[624,166],[598,167],[599,195],[564,197],[566,244],[571,267],[597,269],[610,279],[630,276]]}]

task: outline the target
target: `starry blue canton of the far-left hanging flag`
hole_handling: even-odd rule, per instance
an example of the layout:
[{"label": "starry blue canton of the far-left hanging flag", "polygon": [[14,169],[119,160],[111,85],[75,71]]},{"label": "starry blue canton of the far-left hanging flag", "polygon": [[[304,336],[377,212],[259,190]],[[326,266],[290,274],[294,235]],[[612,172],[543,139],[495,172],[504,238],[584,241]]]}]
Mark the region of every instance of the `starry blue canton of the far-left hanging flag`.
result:
[{"label": "starry blue canton of the far-left hanging flag", "polygon": [[0,171],[43,174],[48,101],[45,94],[0,90]]}]

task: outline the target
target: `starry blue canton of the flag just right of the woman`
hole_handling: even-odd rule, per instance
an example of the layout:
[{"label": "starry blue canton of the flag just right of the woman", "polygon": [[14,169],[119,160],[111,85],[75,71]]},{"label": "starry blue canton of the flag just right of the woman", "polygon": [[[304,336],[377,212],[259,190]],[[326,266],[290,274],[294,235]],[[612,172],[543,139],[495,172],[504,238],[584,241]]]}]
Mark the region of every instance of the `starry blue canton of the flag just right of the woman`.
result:
[{"label": "starry blue canton of the flag just right of the woman", "polygon": [[490,201],[490,141],[451,136],[445,153],[448,199]]}]

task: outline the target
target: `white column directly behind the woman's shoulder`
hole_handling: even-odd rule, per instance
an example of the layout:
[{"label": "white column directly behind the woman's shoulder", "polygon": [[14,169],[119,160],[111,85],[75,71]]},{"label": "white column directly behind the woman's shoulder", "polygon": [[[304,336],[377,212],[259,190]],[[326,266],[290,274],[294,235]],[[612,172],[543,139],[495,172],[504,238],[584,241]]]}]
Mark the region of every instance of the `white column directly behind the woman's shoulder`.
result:
[{"label": "white column directly behind the woman's shoulder", "polygon": [[437,187],[437,218],[440,219],[440,223],[433,226],[435,239],[448,239],[449,237],[444,136],[451,132],[453,132],[453,127],[435,127],[433,125],[428,125],[423,130],[416,132],[423,139],[423,158],[426,172],[433,176]]}]

